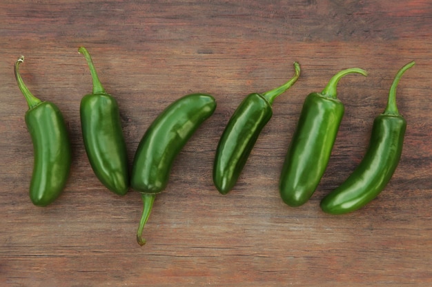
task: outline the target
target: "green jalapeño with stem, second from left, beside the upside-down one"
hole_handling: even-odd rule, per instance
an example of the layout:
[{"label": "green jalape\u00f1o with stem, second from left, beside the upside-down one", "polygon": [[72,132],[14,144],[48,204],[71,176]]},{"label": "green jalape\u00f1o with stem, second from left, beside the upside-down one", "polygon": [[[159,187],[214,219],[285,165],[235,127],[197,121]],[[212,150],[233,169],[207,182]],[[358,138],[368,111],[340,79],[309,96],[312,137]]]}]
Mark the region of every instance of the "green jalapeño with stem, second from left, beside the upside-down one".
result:
[{"label": "green jalape\u00f1o with stem, second from left, beside the upside-down one", "polygon": [[92,94],[81,99],[79,109],[88,160],[105,187],[118,195],[125,195],[129,188],[128,153],[119,106],[101,85],[86,48],[80,47],[79,52],[86,57],[93,81]]}]

